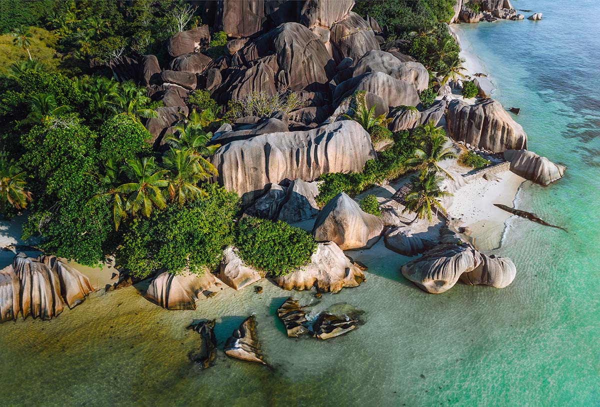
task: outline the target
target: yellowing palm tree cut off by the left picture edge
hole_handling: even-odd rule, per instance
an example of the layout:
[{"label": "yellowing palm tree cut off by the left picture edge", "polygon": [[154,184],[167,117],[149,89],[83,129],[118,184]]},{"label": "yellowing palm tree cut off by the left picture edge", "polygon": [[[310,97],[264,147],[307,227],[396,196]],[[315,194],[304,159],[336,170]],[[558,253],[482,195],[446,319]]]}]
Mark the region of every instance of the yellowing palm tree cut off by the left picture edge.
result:
[{"label": "yellowing palm tree cut off by the left picture edge", "polygon": [[25,190],[25,176],[14,160],[0,154],[0,212],[4,213],[7,203],[19,210],[27,207],[32,196]]}]

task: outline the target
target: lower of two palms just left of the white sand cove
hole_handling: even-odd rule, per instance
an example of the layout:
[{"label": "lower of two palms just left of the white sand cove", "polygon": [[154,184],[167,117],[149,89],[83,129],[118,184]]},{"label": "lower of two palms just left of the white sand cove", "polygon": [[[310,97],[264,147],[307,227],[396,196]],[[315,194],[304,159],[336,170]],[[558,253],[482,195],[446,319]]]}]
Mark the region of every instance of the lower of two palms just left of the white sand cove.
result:
[{"label": "lower of two palms just left of the white sand cove", "polygon": [[440,203],[440,199],[449,196],[450,193],[440,190],[440,185],[443,178],[438,176],[433,170],[423,170],[419,175],[413,175],[410,178],[412,182],[412,191],[404,197],[405,207],[402,213],[414,212],[415,219],[424,219],[431,222],[431,210],[441,210],[445,212],[444,207]]}]

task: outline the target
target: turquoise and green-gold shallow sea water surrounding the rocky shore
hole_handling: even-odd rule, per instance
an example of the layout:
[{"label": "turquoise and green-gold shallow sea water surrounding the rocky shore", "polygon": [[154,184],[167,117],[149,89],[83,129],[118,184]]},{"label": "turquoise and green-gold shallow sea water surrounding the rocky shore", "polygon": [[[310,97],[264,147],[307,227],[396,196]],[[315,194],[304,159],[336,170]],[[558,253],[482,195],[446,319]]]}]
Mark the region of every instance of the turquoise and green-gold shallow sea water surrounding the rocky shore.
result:
[{"label": "turquoise and green-gold shallow sea water surrounding the rocky shore", "polygon": [[[457,28],[493,97],[521,108],[529,148],[568,167],[515,199],[568,232],[509,219],[496,253],[517,265],[512,285],[430,295],[401,277],[407,258],[351,253],[368,281],[314,311],[349,303],[366,324],[325,342],[286,337],[277,307],[289,295],[317,300],[266,280],[262,294],[226,290],[195,311],[160,309],[133,287],[96,292],[52,321],[0,325],[0,405],[600,405],[600,1],[514,6],[544,19]],[[222,349],[250,313],[270,369],[223,352],[208,370],[190,363],[194,319],[217,319]]]}]

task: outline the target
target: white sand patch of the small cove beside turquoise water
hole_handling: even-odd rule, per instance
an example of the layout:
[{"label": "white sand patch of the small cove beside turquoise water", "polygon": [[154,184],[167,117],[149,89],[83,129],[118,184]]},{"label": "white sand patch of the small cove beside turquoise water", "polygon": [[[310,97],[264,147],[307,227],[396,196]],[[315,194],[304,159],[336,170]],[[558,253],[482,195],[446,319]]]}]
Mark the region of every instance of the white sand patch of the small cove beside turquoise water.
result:
[{"label": "white sand patch of the small cove beside turquoise water", "polygon": [[492,250],[500,246],[506,219],[506,211],[494,206],[502,203],[512,207],[517,190],[524,178],[510,171],[496,174],[500,181],[474,179],[454,193],[454,202],[448,208],[451,217],[460,218],[472,231],[471,237],[480,250]]}]

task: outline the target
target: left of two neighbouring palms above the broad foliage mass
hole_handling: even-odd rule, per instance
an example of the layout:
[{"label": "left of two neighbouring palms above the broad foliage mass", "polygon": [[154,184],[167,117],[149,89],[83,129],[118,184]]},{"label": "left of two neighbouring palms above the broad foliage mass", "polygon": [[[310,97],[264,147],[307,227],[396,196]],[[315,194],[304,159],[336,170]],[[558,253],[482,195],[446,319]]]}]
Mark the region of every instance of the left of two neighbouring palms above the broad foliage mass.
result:
[{"label": "left of two neighbouring palms above the broad foliage mass", "polygon": [[166,208],[167,204],[161,188],[169,184],[164,179],[167,170],[158,168],[154,158],[144,157],[127,160],[124,172],[131,182],[120,185],[118,190],[129,194],[125,204],[129,213],[137,216],[141,211],[143,215],[150,217],[154,208]]}]

